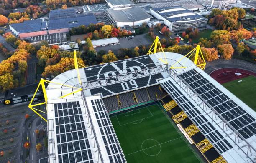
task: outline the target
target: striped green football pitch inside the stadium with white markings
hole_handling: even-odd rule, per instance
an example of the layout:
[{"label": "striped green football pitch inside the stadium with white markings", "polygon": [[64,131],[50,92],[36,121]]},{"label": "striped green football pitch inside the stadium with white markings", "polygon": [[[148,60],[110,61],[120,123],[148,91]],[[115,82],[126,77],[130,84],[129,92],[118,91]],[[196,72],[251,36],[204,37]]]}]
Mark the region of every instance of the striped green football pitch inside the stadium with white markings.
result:
[{"label": "striped green football pitch inside the stadium with white markings", "polygon": [[202,163],[158,104],[110,115],[128,163]]}]

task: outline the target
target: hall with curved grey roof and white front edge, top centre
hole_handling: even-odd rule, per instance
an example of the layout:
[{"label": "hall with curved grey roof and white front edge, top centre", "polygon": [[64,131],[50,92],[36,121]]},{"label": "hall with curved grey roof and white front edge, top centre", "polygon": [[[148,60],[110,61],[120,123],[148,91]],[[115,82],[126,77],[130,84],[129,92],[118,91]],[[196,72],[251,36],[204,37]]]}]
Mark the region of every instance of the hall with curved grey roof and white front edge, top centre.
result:
[{"label": "hall with curved grey roof and white front edge, top centre", "polygon": [[122,10],[108,9],[104,18],[117,27],[123,27],[125,25],[133,27],[136,25],[142,25],[144,22],[147,23],[151,16],[140,7],[134,6]]}]

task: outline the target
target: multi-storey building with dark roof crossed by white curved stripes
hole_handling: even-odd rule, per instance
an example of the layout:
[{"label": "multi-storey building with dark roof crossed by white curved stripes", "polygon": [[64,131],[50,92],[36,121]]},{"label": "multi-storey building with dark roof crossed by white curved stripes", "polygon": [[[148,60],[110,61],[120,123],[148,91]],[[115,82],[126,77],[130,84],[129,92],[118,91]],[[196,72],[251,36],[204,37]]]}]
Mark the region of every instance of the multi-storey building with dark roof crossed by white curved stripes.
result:
[{"label": "multi-storey building with dark roof crossed by white curved stripes", "polygon": [[150,14],[164,20],[164,24],[173,32],[186,30],[189,27],[205,27],[208,21],[207,18],[179,6],[151,8]]}]

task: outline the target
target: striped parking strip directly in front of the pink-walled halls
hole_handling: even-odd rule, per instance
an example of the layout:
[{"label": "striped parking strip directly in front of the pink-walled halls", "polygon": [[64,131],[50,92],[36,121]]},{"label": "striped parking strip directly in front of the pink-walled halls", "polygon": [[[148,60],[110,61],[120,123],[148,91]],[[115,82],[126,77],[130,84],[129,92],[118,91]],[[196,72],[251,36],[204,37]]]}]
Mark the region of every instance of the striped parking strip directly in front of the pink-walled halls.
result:
[{"label": "striped parking strip directly in front of the pink-walled halls", "polygon": [[67,41],[66,33],[54,33],[49,35],[33,36],[30,42],[47,41],[49,44],[63,43]]}]

